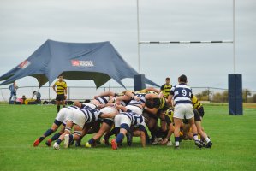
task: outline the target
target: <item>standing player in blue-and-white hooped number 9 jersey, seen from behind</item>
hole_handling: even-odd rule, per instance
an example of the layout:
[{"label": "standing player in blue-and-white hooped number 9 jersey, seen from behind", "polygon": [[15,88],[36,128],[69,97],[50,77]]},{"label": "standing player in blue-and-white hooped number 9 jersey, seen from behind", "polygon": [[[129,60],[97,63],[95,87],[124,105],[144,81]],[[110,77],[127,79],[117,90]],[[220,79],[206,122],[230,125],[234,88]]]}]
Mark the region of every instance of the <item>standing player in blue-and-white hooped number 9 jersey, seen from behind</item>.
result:
[{"label": "standing player in blue-and-white hooped number 9 jersey, seen from behind", "polygon": [[182,74],[178,79],[179,85],[175,85],[170,89],[170,96],[168,100],[174,106],[174,125],[175,125],[175,148],[180,147],[180,128],[182,120],[186,118],[192,128],[193,139],[195,145],[202,148],[199,142],[197,128],[194,123],[193,105],[191,101],[192,89],[187,85],[187,76]]}]

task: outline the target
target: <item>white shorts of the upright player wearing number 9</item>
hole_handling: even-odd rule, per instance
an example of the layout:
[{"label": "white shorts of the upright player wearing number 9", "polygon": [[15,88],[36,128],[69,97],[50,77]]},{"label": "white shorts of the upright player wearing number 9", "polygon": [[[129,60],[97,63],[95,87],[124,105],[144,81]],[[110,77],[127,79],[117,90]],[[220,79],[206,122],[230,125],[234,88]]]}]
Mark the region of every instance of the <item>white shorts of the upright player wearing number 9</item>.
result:
[{"label": "white shorts of the upright player wearing number 9", "polygon": [[184,117],[186,117],[186,119],[190,119],[193,118],[193,116],[192,104],[179,103],[174,107],[174,118],[184,119]]}]

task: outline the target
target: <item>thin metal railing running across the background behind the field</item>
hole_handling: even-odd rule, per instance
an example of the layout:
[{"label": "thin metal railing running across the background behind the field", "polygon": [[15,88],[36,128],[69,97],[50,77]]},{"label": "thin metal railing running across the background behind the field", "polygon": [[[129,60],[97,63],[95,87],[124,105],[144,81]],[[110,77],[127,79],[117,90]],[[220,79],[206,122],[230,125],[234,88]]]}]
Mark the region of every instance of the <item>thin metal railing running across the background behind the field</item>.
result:
[{"label": "thin metal railing running across the background behind the field", "polygon": [[[134,86],[127,86],[127,90],[134,90]],[[193,94],[197,95],[200,101],[209,102],[228,102],[228,89],[216,88],[216,87],[192,87]],[[17,97],[25,95],[27,98],[33,97],[33,91],[41,93],[42,100],[51,101],[56,98],[56,93],[51,86],[21,86],[17,90]],[[104,91],[122,92],[125,89],[122,86],[103,86],[98,89],[95,86],[68,86],[67,100],[85,100],[92,99],[95,95],[98,95]],[[0,101],[9,101],[10,91],[9,88],[0,88]],[[253,97],[255,98],[253,100]],[[35,98],[35,97],[34,97]],[[244,103],[256,103],[256,91],[243,91]]]}]

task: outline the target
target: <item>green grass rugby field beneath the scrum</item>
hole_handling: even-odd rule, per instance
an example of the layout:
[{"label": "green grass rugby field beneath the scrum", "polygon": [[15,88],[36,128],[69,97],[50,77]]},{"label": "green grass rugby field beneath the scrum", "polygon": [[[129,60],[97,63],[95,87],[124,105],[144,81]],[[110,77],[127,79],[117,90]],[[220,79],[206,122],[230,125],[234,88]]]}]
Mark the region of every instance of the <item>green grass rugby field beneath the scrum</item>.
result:
[{"label": "green grass rugby field beneath the scrum", "polygon": [[182,141],[180,150],[167,146],[141,148],[138,138],[133,147],[125,144],[116,151],[104,145],[52,150],[45,141],[34,148],[34,139],[51,127],[55,116],[56,106],[1,104],[0,170],[256,169],[256,108],[252,105],[244,108],[241,116],[228,115],[227,105],[205,105],[203,126],[213,146],[202,150],[193,141]]}]

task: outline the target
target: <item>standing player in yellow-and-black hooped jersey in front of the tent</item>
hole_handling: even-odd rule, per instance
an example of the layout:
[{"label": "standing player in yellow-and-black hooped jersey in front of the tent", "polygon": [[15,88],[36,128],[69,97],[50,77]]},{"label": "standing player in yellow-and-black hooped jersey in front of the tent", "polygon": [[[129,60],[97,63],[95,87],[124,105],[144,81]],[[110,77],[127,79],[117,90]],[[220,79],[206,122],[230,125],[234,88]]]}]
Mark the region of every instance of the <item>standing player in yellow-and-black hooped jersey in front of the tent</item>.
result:
[{"label": "standing player in yellow-and-black hooped jersey in front of the tent", "polygon": [[[57,89],[55,89],[57,87]],[[63,75],[58,76],[58,80],[52,85],[53,90],[56,92],[57,112],[60,111],[60,105],[62,103],[65,107],[65,100],[67,98],[67,83],[63,80]]]}]

